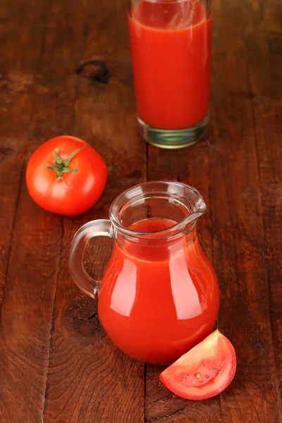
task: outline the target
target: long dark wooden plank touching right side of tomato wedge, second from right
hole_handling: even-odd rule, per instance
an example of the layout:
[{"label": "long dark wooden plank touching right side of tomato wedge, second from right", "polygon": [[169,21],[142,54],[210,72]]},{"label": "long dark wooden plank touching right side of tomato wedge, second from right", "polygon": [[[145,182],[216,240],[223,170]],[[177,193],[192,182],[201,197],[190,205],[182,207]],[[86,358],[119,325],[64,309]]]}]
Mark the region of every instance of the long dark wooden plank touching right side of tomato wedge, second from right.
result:
[{"label": "long dark wooden plank touching right side of tomato wedge, second from right", "polygon": [[250,23],[247,24],[250,11],[245,10],[243,1],[236,5],[216,1],[214,6],[216,95],[212,102],[214,142],[210,151],[214,265],[221,286],[219,327],[231,339],[238,355],[235,380],[221,394],[221,415],[223,422],[228,423],[279,422],[269,287],[262,255],[264,226],[252,91],[244,37],[251,30]]}]

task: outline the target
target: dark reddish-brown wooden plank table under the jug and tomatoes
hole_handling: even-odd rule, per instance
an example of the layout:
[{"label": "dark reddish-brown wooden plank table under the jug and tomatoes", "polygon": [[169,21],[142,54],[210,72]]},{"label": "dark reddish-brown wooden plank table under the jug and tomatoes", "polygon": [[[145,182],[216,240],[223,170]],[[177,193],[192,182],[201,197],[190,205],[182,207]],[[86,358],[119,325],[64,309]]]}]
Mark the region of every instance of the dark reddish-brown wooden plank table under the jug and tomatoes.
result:
[{"label": "dark reddish-brown wooden plank table under the jug and tomatoes", "polygon": [[[164,151],[136,134],[125,1],[0,3],[0,422],[278,423],[282,384],[282,3],[214,0],[212,135]],[[75,68],[102,57],[109,84]],[[104,157],[101,200],[75,218],[32,202],[25,165],[44,140],[82,137]],[[75,231],[125,188],[181,180],[208,204],[200,234],[221,288],[233,384],[202,402],[126,357],[68,274]],[[109,244],[92,246],[101,264]]]}]

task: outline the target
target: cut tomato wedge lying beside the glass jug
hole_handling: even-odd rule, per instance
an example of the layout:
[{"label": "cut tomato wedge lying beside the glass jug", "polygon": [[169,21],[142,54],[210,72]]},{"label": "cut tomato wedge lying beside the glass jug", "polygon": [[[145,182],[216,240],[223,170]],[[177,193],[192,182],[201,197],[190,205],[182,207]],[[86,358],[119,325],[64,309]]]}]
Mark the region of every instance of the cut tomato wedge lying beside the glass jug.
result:
[{"label": "cut tomato wedge lying beside the glass jug", "polygon": [[235,372],[234,347],[216,330],[165,369],[159,379],[180,397],[204,400],[227,388]]}]

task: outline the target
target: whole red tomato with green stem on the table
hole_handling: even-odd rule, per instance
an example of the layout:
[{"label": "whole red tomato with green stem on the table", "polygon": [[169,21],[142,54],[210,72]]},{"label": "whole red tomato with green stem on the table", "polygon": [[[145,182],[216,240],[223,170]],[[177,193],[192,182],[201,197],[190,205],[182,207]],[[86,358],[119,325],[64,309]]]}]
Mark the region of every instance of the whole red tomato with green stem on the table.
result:
[{"label": "whole red tomato with green stem on the table", "polygon": [[97,202],[106,185],[106,165],[87,142],[69,135],[44,142],[30,157],[27,189],[49,212],[74,216]]}]

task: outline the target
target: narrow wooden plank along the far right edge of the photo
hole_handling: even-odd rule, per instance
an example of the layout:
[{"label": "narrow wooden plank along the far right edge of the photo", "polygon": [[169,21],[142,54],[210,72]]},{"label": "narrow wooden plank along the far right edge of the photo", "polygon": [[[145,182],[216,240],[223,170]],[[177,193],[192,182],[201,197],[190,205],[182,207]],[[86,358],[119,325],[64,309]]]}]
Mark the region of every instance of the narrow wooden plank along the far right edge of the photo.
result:
[{"label": "narrow wooden plank along the far right edge of the photo", "polygon": [[[266,7],[271,11],[272,7]],[[282,5],[276,4],[275,18],[281,16]],[[271,16],[271,13],[265,13]],[[274,15],[274,13],[272,14]],[[282,35],[275,28],[276,20],[255,39],[250,34],[250,84],[252,108],[257,140],[258,168],[262,192],[264,221],[264,259],[269,281],[270,318],[276,355],[278,401],[281,410],[282,384],[282,326],[281,326],[281,273],[282,273]],[[265,26],[265,25],[264,25]],[[259,41],[259,42],[258,42]],[[267,78],[266,78],[266,75]],[[274,364],[275,366],[275,364]]]}]

